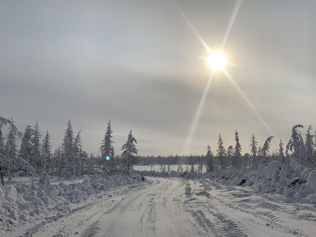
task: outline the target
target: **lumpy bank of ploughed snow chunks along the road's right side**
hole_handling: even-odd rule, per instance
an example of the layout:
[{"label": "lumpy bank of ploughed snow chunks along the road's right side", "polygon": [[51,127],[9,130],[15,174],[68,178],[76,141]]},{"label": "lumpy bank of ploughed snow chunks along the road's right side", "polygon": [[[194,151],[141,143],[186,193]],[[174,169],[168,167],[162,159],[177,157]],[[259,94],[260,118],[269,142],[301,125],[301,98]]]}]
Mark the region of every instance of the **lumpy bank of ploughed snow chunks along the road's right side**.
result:
[{"label": "lumpy bank of ploughed snow chunks along the road's right side", "polygon": [[221,170],[215,179],[225,185],[254,187],[260,192],[283,196],[286,203],[310,203],[316,207],[316,171],[301,165],[272,161],[252,171],[246,167]]}]

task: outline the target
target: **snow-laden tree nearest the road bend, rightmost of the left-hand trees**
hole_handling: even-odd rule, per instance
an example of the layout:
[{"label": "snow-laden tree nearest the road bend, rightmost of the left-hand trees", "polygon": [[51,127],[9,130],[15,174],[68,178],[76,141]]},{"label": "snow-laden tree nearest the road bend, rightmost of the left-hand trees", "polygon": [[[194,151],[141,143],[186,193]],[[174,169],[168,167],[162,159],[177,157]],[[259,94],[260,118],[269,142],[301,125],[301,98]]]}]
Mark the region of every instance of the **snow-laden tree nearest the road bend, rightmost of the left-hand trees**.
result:
[{"label": "snow-laden tree nearest the road bend, rightmost of the left-hand trees", "polygon": [[123,174],[130,174],[130,171],[133,170],[133,164],[137,162],[137,152],[136,149],[137,141],[135,137],[132,135],[132,131],[127,136],[127,142],[122,146],[123,153],[122,153],[122,159],[119,164],[119,170]]}]

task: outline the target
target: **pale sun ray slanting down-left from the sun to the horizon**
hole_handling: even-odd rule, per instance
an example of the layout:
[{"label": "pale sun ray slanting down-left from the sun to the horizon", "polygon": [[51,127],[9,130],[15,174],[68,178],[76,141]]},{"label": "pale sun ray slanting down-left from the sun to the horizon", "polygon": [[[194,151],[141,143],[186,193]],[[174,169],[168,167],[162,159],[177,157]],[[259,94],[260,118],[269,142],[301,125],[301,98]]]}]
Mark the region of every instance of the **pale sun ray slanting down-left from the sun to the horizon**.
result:
[{"label": "pale sun ray slanting down-left from the sun to the horizon", "polygon": [[206,99],[206,96],[209,92],[209,89],[210,89],[210,85],[211,85],[211,82],[212,82],[212,79],[213,79],[213,75],[214,75],[214,71],[212,71],[211,73],[211,76],[206,84],[206,87],[204,89],[204,92],[202,94],[202,97],[201,97],[201,100],[200,100],[200,103],[197,107],[197,111],[195,112],[195,115],[194,115],[194,119],[193,119],[193,122],[191,124],[191,127],[190,127],[190,130],[189,130],[189,134],[188,136],[186,137],[186,140],[185,140],[185,144],[184,144],[184,147],[183,147],[183,154],[186,154],[190,148],[190,145],[191,145],[191,142],[192,142],[192,137],[193,137],[193,134],[195,132],[195,129],[197,127],[197,123],[200,119],[200,115],[201,115],[201,112],[202,112],[202,109],[203,109],[203,106],[204,106],[204,102],[205,102],[205,99]]}]

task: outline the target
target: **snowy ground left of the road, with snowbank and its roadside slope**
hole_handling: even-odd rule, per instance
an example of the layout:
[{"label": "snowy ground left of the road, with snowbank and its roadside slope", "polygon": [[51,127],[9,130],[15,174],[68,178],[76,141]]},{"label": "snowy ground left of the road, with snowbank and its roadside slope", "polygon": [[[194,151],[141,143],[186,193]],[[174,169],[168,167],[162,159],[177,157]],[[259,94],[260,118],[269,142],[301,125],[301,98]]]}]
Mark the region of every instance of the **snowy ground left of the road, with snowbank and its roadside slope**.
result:
[{"label": "snowy ground left of the road, with snowbank and its roadside slope", "polygon": [[[33,181],[36,185],[37,179]],[[114,203],[114,197],[147,184],[138,174],[51,181],[45,191],[34,187],[30,178],[5,181],[5,189],[0,185],[0,236],[32,236],[37,232],[52,236],[43,234],[43,221],[56,222],[104,201]],[[68,235],[65,230],[57,236]]]}]

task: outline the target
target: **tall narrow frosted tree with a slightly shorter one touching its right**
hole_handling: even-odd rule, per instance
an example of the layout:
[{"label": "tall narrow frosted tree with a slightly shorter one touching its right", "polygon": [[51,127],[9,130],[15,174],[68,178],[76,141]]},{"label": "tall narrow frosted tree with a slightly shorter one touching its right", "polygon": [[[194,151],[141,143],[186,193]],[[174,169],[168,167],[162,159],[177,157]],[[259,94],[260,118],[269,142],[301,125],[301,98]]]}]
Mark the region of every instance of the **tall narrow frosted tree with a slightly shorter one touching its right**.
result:
[{"label": "tall narrow frosted tree with a slightly shorter one touching its right", "polygon": [[74,135],[70,119],[65,130],[65,137],[63,141],[63,155],[64,155],[64,178],[71,179],[72,176],[72,162],[73,162],[73,141]]}]

